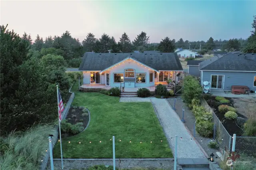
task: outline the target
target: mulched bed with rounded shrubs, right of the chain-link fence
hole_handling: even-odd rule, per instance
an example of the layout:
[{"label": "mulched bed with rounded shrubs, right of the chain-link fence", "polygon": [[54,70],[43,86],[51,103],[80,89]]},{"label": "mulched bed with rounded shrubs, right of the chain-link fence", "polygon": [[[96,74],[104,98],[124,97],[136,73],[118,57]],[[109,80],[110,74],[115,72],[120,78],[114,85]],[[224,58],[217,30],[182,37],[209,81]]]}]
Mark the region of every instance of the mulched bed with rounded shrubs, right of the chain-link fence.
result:
[{"label": "mulched bed with rounded shrubs, right of the chain-link fence", "polygon": [[[210,105],[210,107],[212,107],[215,115],[222,122],[222,125],[226,128],[226,130],[231,136],[234,133],[237,136],[242,136],[242,133],[243,133],[242,128],[247,118],[236,111],[236,109],[233,106],[233,101],[231,98],[208,96],[206,99],[206,102],[208,103],[208,105]],[[237,114],[237,118],[235,118],[236,115],[232,117],[234,119],[230,118],[229,117],[230,111],[235,112]],[[229,113],[226,114],[227,112]],[[226,114],[226,117],[225,117],[225,114]]]}]

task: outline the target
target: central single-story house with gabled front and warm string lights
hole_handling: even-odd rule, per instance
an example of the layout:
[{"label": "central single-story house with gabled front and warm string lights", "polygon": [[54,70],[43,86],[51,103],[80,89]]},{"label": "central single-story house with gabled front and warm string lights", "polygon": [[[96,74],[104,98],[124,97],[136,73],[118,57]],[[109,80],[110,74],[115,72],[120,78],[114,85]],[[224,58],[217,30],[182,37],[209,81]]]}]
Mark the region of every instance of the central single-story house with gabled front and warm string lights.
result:
[{"label": "central single-story house with gabled front and warm string lights", "polygon": [[[79,71],[83,87],[151,87],[178,81],[182,65],[176,53],[85,53]],[[156,83],[157,84],[157,83]]]}]

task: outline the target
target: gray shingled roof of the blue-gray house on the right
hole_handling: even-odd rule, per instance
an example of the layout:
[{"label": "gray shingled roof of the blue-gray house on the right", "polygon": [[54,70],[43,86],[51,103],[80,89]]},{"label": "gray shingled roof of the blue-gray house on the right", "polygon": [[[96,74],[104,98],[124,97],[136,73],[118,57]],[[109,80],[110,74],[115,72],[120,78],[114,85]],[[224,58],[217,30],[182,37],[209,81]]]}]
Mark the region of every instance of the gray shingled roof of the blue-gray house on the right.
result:
[{"label": "gray shingled roof of the blue-gray house on the right", "polygon": [[200,70],[255,71],[256,54],[228,53],[199,63]]}]

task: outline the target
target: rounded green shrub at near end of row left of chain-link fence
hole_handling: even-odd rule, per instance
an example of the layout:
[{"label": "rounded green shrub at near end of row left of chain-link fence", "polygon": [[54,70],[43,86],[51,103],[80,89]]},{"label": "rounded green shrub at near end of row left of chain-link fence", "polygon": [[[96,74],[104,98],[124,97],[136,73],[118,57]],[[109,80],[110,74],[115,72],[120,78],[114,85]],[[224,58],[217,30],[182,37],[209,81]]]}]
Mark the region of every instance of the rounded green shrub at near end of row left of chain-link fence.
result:
[{"label": "rounded green shrub at near end of row left of chain-link fence", "polygon": [[196,123],[196,132],[203,137],[210,137],[213,133],[214,123],[209,121],[200,121]]}]

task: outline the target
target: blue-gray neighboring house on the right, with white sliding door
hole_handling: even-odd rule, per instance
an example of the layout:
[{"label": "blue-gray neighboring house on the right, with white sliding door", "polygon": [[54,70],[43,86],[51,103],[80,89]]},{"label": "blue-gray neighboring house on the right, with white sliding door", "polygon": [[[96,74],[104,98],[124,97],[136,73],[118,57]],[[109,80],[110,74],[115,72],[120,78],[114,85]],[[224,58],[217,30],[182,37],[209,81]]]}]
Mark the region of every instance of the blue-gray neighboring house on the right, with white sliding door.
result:
[{"label": "blue-gray neighboring house on the right, with white sliding door", "polygon": [[232,85],[256,90],[256,54],[228,53],[199,63],[201,84],[209,81],[211,89],[231,90]]}]

